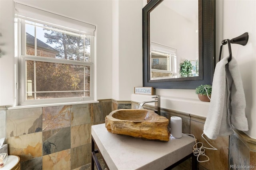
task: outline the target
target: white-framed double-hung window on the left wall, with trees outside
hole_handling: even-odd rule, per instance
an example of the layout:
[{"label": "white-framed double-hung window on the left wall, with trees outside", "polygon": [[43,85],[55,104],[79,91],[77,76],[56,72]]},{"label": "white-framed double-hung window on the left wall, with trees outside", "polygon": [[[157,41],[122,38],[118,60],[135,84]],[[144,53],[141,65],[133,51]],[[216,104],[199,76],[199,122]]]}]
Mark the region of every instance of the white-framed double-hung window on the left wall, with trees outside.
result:
[{"label": "white-framed double-hung window on the left wall, with trees outside", "polygon": [[[76,20],[68,24],[65,17],[20,4],[19,7],[20,104],[92,100],[94,30],[78,31],[73,24]],[[41,14],[39,19],[43,16],[43,20],[38,20],[26,8],[46,16]],[[64,26],[53,24],[56,22],[52,17]]]}]

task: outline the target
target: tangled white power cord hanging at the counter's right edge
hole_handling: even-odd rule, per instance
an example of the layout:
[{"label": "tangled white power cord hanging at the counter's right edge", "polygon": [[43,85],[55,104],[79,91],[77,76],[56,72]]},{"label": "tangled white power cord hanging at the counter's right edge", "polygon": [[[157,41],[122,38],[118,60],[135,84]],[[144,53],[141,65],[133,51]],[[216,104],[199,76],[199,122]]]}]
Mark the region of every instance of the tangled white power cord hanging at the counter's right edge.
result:
[{"label": "tangled white power cord hanging at the counter's right edge", "polygon": [[[203,143],[202,142],[196,142],[196,137],[192,134],[185,134],[185,135],[190,135],[190,136],[193,136],[194,139],[195,139],[195,145],[193,146],[193,153],[194,153],[194,156],[197,157],[197,161],[198,162],[207,162],[208,160],[210,160],[210,158],[205,154],[205,149],[210,149],[210,150],[218,150],[217,148],[213,147],[204,137],[204,133],[201,135],[202,138],[212,147],[212,148],[206,148],[204,147]],[[201,147],[198,148],[198,144],[202,145]],[[206,160],[202,160],[200,161],[199,160],[199,156],[206,156]]]}]

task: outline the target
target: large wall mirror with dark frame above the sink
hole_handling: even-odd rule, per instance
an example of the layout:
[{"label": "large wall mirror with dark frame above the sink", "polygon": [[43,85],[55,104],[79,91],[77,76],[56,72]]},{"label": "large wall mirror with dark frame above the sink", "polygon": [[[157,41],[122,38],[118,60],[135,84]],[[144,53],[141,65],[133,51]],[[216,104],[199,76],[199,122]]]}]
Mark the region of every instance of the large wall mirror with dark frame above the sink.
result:
[{"label": "large wall mirror with dark frame above the sink", "polygon": [[142,9],[142,22],[143,86],[195,89],[212,84],[215,0],[151,0]]}]

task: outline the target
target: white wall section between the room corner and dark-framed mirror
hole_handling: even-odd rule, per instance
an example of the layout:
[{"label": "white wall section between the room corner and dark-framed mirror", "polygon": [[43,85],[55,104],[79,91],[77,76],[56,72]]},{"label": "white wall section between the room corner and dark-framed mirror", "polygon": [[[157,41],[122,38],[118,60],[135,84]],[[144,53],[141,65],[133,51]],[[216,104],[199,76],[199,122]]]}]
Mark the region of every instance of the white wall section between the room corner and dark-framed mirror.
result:
[{"label": "white wall section between the room corner and dark-framed mirror", "polygon": [[113,1],[113,99],[131,100],[142,86],[143,0]]}]

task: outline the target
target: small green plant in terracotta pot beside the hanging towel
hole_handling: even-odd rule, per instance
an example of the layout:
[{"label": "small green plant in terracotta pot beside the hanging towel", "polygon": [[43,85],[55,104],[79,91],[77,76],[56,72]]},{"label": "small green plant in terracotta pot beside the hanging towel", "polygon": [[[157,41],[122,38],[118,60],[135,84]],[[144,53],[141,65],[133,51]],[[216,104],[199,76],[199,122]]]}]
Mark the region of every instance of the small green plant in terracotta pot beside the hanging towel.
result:
[{"label": "small green plant in terracotta pot beside the hanging towel", "polygon": [[[207,89],[207,92],[206,92],[206,89]],[[196,94],[198,94],[198,98],[202,102],[210,102],[210,98],[212,94],[212,86],[208,84],[200,85],[196,88]]]}]

